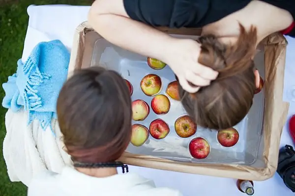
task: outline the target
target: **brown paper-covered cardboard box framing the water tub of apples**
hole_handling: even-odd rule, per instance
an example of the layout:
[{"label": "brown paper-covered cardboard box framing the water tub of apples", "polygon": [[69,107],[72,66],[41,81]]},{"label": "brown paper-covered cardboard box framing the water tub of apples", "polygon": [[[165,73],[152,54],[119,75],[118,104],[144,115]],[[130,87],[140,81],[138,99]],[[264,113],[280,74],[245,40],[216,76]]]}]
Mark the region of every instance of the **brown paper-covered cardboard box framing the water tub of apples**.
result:
[{"label": "brown paper-covered cardboard box framing the water tub of apples", "polygon": [[[169,34],[200,35],[202,30],[196,28],[169,29],[160,27],[160,30]],[[76,29],[73,48],[71,52],[68,77],[76,69],[91,66],[92,51],[97,40],[103,39],[87,22]],[[264,143],[261,160],[264,167],[255,163],[250,166],[233,164],[206,164],[188,163],[162,159],[153,156],[132,154],[125,152],[120,158],[125,164],[148,167],[176,172],[196,173],[220,177],[230,177],[248,180],[266,180],[270,178],[277,168],[280,136],[286,122],[289,104],[282,101],[284,68],[286,57],[285,38],[278,33],[269,35],[259,45],[264,50],[265,62],[265,108],[263,120]],[[101,51],[103,52],[103,50]]]}]

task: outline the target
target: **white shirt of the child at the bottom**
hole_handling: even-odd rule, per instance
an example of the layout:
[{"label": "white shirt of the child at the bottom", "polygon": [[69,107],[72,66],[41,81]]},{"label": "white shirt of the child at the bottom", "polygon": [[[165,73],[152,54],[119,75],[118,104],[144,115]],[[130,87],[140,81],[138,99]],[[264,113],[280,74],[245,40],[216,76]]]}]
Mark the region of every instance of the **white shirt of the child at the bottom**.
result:
[{"label": "white shirt of the child at the bottom", "polygon": [[182,196],[169,188],[156,188],[152,180],[135,173],[97,178],[65,167],[60,174],[45,172],[32,179],[28,196]]}]

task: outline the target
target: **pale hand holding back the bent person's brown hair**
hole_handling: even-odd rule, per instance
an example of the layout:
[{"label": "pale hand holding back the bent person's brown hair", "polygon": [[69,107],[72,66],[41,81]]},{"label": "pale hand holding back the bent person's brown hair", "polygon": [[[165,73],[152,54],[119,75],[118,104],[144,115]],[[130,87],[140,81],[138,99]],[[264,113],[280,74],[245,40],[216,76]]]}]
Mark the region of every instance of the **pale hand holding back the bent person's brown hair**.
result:
[{"label": "pale hand holding back the bent person's brown hair", "polygon": [[189,93],[195,93],[200,87],[208,86],[218,75],[218,72],[198,63],[200,46],[191,39],[176,39],[163,58],[177,75],[181,87]]}]

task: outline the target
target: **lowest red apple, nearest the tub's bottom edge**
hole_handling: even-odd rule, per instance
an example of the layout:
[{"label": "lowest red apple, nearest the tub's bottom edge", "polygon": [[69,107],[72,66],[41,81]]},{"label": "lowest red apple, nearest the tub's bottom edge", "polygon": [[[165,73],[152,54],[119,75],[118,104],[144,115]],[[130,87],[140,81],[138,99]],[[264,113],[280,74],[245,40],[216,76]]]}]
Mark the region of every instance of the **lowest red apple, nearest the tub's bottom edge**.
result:
[{"label": "lowest red apple, nearest the tub's bottom edge", "polygon": [[188,150],[195,159],[205,159],[210,153],[210,145],[204,138],[198,137],[190,141]]}]

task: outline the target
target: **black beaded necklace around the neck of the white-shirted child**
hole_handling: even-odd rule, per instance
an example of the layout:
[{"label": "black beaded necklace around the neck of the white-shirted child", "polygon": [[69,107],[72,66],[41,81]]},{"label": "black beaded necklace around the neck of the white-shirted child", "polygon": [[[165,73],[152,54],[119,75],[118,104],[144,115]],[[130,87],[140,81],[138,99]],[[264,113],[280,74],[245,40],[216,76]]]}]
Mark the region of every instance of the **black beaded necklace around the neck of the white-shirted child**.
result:
[{"label": "black beaded necklace around the neck of the white-shirted child", "polygon": [[74,167],[76,168],[122,168],[122,173],[129,172],[128,166],[124,165],[122,162],[107,162],[107,163],[81,163],[74,161]]}]

